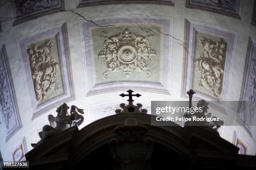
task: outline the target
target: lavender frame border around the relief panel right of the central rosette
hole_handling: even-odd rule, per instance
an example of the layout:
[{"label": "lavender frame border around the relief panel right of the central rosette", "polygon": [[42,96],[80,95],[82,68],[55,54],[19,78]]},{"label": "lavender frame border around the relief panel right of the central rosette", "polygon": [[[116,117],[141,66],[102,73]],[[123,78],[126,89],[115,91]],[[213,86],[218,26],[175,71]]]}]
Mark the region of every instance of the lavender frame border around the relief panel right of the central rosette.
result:
[{"label": "lavender frame border around the relief panel right of the central rosette", "polygon": [[[197,21],[187,20],[185,19],[185,33],[184,33],[184,60],[183,60],[183,73],[182,73],[182,91],[181,97],[188,98],[187,91],[192,88],[192,70],[193,70],[193,60],[194,58],[194,50],[195,50],[195,31],[196,29],[202,30],[204,32],[218,34],[221,37],[226,37],[228,39],[228,46],[225,57],[225,69],[223,74],[223,85],[221,92],[221,100],[227,101],[228,94],[230,90],[230,78],[232,73],[232,65],[233,65],[233,56],[236,47],[237,41],[237,32],[233,32],[230,30],[225,30],[224,28],[216,27],[214,25],[210,25],[207,23],[201,23]],[[188,55],[191,54],[191,55]],[[194,90],[197,92],[196,90]],[[210,105],[219,110],[220,112],[225,113],[225,105],[221,104],[222,102],[218,102],[216,98],[204,95],[200,92],[197,92],[193,95],[193,99],[195,100],[206,100],[212,101]]]}]

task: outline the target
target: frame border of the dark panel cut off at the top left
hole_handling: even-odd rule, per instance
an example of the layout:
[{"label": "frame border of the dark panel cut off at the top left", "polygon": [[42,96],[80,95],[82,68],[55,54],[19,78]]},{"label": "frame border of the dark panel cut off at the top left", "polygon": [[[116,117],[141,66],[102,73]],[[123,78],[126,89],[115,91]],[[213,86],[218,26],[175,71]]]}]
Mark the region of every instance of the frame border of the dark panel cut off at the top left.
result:
[{"label": "frame border of the dark panel cut off at the top left", "polygon": [[[61,4],[61,7],[59,7],[59,8],[51,9],[51,10],[46,10],[46,11],[43,11],[41,13],[40,12],[34,13],[34,14],[32,13],[32,14],[29,14],[31,16],[28,15],[28,16],[25,16],[25,17],[21,17],[20,19],[17,19],[17,20],[14,19],[13,26],[21,24],[21,23],[24,23],[24,22],[26,22],[28,20],[33,20],[33,19],[45,16],[45,15],[61,12],[61,10],[65,9],[65,3],[64,3],[64,0],[60,0],[59,2]],[[14,11],[13,11],[13,7],[12,7],[11,2],[9,4],[10,4],[10,10],[11,10],[12,18],[18,18],[17,16],[15,17],[13,15]]]}]

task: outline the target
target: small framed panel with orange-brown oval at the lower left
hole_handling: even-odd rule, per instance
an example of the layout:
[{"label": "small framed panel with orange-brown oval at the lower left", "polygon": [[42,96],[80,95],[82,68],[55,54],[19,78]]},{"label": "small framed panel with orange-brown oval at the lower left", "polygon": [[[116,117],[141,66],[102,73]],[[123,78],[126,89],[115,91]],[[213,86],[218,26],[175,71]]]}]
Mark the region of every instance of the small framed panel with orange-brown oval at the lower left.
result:
[{"label": "small framed panel with orange-brown oval at the lower left", "polygon": [[12,153],[13,162],[25,161],[25,154],[28,152],[26,139],[23,138],[20,145]]}]

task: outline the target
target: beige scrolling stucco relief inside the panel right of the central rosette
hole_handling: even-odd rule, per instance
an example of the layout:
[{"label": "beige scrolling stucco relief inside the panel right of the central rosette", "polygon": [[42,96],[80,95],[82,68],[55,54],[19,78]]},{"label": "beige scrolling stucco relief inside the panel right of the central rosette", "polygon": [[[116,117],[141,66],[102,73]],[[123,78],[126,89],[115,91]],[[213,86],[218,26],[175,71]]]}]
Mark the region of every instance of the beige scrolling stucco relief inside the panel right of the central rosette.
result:
[{"label": "beige scrolling stucco relief inside the panel right of the central rosette", "polygon": [[226,55],[226,42],[218,39],[214,42],[210,38],[202,37],[200,45],[203,50],[200,58],[195,60],[199,66],[200,77],[197,87],[210,90],[213,97],[220,97]]}]

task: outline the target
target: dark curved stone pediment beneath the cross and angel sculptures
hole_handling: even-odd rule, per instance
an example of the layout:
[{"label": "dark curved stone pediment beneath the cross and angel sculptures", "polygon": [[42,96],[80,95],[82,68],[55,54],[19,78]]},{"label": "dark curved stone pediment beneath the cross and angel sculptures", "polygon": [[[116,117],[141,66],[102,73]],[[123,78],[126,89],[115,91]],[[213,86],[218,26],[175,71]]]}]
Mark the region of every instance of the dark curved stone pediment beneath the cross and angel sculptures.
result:
[{"label": "dark curved stone pediment beneath the cross and angel sculptures", "polygon": [[[205,165],[210,165],[212,164],[212,160],[216,158],[222,160],[222,162],[218,162],[218,165],[231,161],[233,163],[232,165],[236,165],[237,167],[241,165],[243,167],[245,165],[240,163],[245,159],[248,160],[250,157],[248,155],[237,155],[238,148],[235,145],[202,128],[182,128],[179,125],[175,126],[173,122],[169,123],[173,125],[151,126],[151,115],[148,114],[129,113],[112,115],[97,120],[81,130],[78,130],[76,126],[69,128],[46,140],[41,145],[38,145],[38,147],[28,152],[25,156],[26,160],[30,163],[30,169],[38,170],[47,169],[48,167],[54,167],[56,169],[69,167],[76,169],[86,165],[90,169],[88,160],[93,161],[93,153],[97,153],[97,160],[102,159],[102,162],[108,159],[112,160],[110,154],[111,147],[108,148],[110,141],[119,141],[116,143],[127,141],[132,136],[125,135],[126,140],[120,140],[123,138],[120,135],[122,134],[120,131],[128,130],[131,133],[134,130],[139,130],[141,127],[143,129],[141,133],[131,133],[137,134],[138,140],[133,138],[134,140],[128,140],[128,143],[137,141],[138,144],[141,144],[140,141],[151,141],[149,143],[153,142],[154,149],[160,150],[160,153],[169,150],[168,154],[170,155],[165,155],[165,157],[177,158],[177,161],[183,163],[180,165],[183,168],[194,165],[200,167],[202,166],[202,160],[204,160]],[[152,144],[150,146],[152,147]],[[163,148],[165,149],[162,150]],[[211,156],[209,156],[209,153],[211,153]],[[108,158],[101,158],[101,155],[108,155],[105,156]],[[156,151],[153,151],[152,159],[153,157],[154,159],[152,161],[157,156]],[[256,161],[255,158],[251,159],[251,161]],[[238,164],[240,165],[238,166]],[[103,165],[94,166],[99,168],[99,166]],[[105,165],[105,168],[111,167]]]}]

